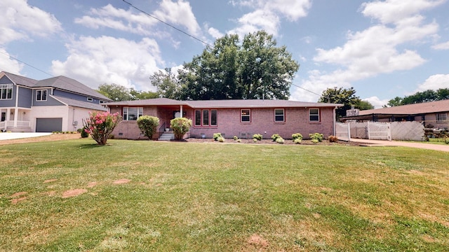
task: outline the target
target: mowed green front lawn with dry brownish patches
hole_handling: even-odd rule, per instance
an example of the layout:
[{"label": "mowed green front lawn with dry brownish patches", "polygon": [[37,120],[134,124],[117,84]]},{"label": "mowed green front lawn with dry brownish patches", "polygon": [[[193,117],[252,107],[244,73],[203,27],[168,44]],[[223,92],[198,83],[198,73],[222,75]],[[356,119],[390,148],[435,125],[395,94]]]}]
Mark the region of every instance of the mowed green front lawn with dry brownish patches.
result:
[{"label": "mowed green front lawn with dry brownish patches", "polygon": [[444,152],[108,142],[0,146],[0,251],[449,247]]}]

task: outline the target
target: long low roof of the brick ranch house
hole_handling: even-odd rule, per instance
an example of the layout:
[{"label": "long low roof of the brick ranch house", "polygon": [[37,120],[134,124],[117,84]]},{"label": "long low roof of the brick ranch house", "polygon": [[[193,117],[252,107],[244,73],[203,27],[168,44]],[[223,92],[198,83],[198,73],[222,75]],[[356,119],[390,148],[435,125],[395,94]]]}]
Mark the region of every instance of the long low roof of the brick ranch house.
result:
[{"label": "long low roof of the brick ranch house", "polygon": [[177,101],[168,98],[145,99],[126,102],[108,102],[107,106],[162,106],[162,105],[184,105],[192,109],[231,109],[231,108],[286,108],[286,107],[335,107],[343,104],[326,104],[319,102],[296,102],[288,100],[270,99],[227,99],[227,100],[204,100],[204,101]]}]

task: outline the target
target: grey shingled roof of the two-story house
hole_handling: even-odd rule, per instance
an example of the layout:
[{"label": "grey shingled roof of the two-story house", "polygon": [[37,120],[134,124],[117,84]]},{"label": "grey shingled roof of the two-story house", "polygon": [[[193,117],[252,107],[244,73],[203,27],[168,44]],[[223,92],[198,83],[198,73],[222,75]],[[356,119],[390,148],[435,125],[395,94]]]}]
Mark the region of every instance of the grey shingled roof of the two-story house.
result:
[{"label": "grey shingled roof of the two-story house", "polygon": [[96,92],[95,90],[91,89],[91,87],[88,87],[82,83],[79,83],[79,81],[77,80],[65,76],[47,78],[44,80],[34,80],[32,78],[19,76],[14,73],[8,73],[5,71],[3,73],[16,85],[23,85],[25,87],[54,87],[59,90],[83,94],[88,97],[95,97],[105,101],[112,101],[112,99],[109,99],[108,97],[105,97],[105,95]]}]

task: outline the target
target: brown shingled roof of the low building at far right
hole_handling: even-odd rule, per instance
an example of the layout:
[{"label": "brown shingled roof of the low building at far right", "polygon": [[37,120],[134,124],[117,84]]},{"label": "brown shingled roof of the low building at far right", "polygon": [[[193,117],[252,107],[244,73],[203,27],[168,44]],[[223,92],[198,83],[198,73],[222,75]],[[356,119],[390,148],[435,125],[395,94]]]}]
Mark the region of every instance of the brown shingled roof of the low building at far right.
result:
[{"label": "brown shingled roof of the low building at far right", "polygon": [[392,106],[382,109],[369,109],[359,111],[358,116],[347,116],[344,117],[344,119],[361,119],[369,118],[370,116],[413,116],[445,111],[449,111],[449,99],[437,102],[423,102],[419,104]]}]

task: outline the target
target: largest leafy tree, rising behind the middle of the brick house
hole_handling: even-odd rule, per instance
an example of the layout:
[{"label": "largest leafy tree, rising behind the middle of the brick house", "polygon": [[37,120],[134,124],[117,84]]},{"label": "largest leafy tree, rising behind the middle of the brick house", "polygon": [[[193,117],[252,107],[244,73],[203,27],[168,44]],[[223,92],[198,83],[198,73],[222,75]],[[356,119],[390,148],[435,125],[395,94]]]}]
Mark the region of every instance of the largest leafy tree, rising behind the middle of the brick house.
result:
[{"label": "largest leafy tree, rising behind the middle of the brick house", "polygon": [[288,99],[299,65],[265,31],[218,38],[179,72],[181,99]]}]

